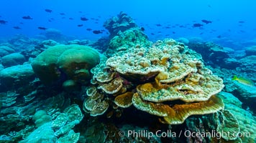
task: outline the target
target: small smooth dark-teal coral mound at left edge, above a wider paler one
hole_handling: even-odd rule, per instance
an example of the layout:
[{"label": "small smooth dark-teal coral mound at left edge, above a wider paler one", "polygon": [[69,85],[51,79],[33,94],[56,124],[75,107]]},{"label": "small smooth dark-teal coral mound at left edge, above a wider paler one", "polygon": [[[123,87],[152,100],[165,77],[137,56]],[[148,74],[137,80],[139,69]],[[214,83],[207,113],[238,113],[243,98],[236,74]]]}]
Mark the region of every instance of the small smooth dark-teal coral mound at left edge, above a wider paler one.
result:
[{"label": "small smooth dark-teal coral mound at left edge, above a wider paler one", "polygon": [[19,53],[12,53],[3,56],[1,60],[1,64],[3,64],[3,66],[9,67],[15,66],[17,64],[23,64],[25,61],[25,57]]}]

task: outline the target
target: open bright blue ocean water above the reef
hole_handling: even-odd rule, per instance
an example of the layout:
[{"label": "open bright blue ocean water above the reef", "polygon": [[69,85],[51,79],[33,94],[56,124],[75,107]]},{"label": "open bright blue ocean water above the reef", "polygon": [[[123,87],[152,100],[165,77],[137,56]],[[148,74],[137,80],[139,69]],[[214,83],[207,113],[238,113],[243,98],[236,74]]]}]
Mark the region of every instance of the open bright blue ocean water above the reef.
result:
[{"label": "open bright blue ocean water above the reef", "polygon": [[[145,28],[151,40],[199,36],[209,41],[217,39],[220,43],[218,37],[224,41],[241,42],[255,39],[255,4],[253,0],[3,0],[0,1],[0,19],[8,22],[0,24],[0,37],[14,34],[35,36],[43,32],[37,29],[42,26],[59,29],[62,34],[76,39],[99,39],[107,36],[107,32],[96,35],[86,29],[102,30],[106,19],[124,11]],[[32,19],[22,19],[22,16],[31,16]],[[88,21],[81,21],[82,16]],[[205,24],[201,21],[203,19],[212,23]],[[193,27],[195,23],[204,26]],[[20,29],[14,29],[14,26]]]}]

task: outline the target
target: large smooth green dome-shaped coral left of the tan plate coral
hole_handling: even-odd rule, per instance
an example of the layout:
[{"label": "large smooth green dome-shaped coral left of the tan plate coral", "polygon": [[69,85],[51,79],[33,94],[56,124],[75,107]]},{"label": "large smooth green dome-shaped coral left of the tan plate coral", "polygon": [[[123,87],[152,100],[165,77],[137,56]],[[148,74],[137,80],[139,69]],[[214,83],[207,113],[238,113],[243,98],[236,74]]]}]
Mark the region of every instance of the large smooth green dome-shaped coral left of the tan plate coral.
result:
[{"label": "large smooth green dome-shaped coral left of the tan plate coral", "polygon": [[52,46],[32,61],[32,68],[44,84],[72,79],[86,82],[90,79],[90,69],[99,63],[98,51],[89,46]]}]

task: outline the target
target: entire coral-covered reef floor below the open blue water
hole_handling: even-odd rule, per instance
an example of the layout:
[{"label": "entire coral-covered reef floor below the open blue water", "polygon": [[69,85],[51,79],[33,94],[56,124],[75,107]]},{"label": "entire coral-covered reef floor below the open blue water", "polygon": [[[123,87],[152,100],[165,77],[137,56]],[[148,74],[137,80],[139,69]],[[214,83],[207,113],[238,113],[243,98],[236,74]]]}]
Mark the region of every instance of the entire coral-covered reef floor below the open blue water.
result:
[{"label": "entire coral-covered reef floor below the open blue water", "polygon": [[152,42],[124,13],[104,26],[1,41],[0,142],[255,142],[256,41]]}]

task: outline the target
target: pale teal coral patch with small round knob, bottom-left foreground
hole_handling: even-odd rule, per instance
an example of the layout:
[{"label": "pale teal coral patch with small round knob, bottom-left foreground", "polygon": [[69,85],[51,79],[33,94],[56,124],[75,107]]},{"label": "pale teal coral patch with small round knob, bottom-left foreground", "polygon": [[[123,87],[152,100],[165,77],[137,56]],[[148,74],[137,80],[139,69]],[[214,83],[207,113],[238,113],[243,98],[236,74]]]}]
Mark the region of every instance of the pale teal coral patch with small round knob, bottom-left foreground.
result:
[{"label": "pale teal coral patch with small round knob, bottom-left foreground", "polygon": [[22,142],[78,142],[80,134],[73,131],[73,127],[83,119],[78,105],[67,107],[53,121],[42,110],[36,112],[34,119],[38,128]]}]

